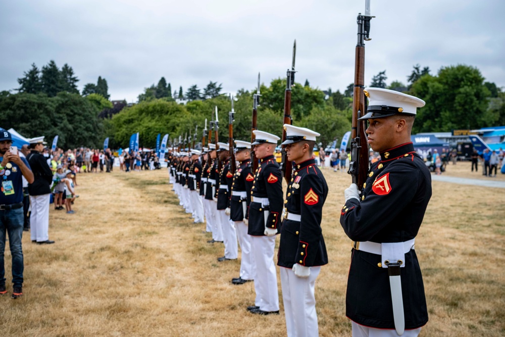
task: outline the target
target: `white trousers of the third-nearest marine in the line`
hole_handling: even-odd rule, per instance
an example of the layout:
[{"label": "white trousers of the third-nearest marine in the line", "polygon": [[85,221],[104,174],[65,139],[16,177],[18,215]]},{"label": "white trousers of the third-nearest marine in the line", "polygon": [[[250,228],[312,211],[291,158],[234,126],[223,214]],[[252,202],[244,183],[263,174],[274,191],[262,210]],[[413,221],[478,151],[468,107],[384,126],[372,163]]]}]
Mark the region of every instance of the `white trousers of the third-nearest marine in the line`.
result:
[{"label": "white trousers of the third-nearest marine in the line", "polygon": [[256,295],[260,296],[260,310],[278,311],[279,292],[277,290],[277,272],[274,264],[275,235],[251,235],[251,244],[256,262],[254,288]]}]

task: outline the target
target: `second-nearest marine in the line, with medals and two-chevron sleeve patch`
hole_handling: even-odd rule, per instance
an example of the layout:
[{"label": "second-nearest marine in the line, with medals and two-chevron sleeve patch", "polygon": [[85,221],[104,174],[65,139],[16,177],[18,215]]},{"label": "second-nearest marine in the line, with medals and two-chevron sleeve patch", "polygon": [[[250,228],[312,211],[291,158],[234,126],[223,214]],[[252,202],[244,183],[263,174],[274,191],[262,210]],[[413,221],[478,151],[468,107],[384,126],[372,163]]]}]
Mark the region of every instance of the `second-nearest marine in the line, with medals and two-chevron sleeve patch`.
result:
[{"label": "second-nearest marine in the line, with medals and two-chevron sleeve patch", "polygon": [[288,337],[318,336],[314,288],[321,266],[328,263],[321,229],[328,185],[313,159],[320,134],[284,124],[287,159],[293,175],[286,191],[278,263]]}]

